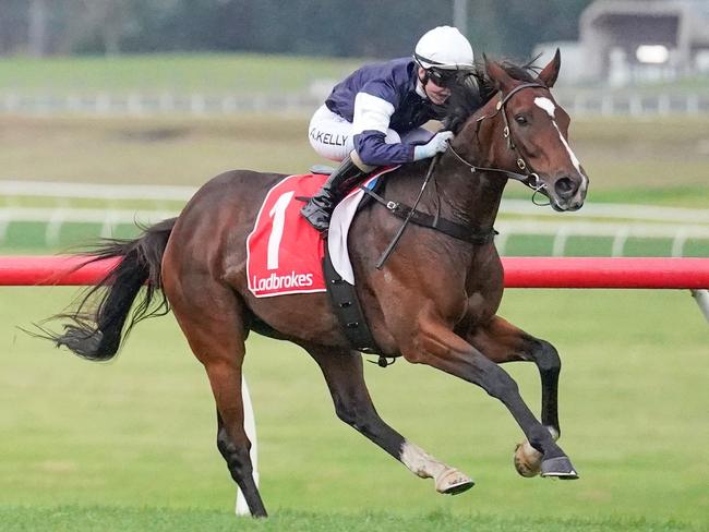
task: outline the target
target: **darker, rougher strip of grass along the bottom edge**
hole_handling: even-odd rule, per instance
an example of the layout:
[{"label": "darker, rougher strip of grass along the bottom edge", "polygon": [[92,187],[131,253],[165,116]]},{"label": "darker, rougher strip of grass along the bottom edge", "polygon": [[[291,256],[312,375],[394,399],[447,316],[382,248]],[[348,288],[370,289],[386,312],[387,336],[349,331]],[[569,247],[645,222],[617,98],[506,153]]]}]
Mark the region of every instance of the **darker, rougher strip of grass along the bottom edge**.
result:
[{"label": "darker, rougher strip of grass along the bottom edge", "polygon": [[453,515],[445,511],[401,516],[392,512],[360,511],[349,513],[285,510],[267,520],[254,521],[235,517],[226,511],[81,507],[58,508],[0,507],[0,524],[4,532],[27,530],[127,531],[151,530],[166,532],[199,532],[221,530],[290,532],[371,532],[407,531],[438,532],[441,530],[478,530],[481,532],[675,532],[699,530],[698,527],[674,520],[652,521],[623,518],[573,518],[553,516],[544,519],[508,518],[485,512]]}]

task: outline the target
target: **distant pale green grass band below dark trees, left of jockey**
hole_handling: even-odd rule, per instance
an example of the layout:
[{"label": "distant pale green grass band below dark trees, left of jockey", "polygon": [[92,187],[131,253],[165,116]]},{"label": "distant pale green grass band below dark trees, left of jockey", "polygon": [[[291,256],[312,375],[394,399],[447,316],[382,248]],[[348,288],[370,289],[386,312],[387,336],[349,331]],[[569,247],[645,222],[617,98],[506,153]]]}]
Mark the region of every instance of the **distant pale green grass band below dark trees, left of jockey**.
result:
[{"label": "distant pale green grass band below dark trees, left of jockey", "polygon": [[339,80],[353,59],[259,53],[165,53],[0,61],[0,93],[21,94],[263,94],[308,90],[314,80]]}]

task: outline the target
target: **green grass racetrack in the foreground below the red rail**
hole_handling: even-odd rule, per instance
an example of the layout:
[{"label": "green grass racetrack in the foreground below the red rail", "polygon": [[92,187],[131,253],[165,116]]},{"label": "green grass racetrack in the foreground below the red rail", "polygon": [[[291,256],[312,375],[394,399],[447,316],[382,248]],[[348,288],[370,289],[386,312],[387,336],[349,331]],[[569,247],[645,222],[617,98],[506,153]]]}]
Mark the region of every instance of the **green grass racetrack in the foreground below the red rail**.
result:
[{"label": "green grass racetrack in the foreground below the red rail", "polygon": [[[0,530],[226,530],[235,487],[206,376],[171,316],[95,364],[15,326],[69,288],[0,290]],[[482,390],[399,362],[366,367],[382,415],[477,485],[434,492],[333,413],[316,365],[252,336],[262,495],[245,530],[702,530],[709,328],[684,292],[510,290],[502,315],[562,353],[562,446],[581,479],[522,479],[520,432]],[[531,364],[506,368],[538,411]]]}]

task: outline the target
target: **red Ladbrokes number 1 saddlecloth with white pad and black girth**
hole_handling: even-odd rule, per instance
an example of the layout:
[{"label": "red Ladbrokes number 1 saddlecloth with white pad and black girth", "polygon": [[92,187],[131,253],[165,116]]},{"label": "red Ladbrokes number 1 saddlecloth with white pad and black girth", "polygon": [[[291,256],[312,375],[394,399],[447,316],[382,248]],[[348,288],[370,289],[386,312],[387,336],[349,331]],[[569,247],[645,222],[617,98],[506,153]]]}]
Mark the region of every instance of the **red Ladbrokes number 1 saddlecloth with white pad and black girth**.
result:
[{"label": "red Ladbrokes number 1 saddlecloth with white pad and black girth", "polygon": [[[363,183],[374,189],[378,177],[396,169],[375,171]],[[288,176],[266,194],[247,239],[249,290],[256,298],[327,291],[333,310],[353,350],[378,353],[358,301],[347,235],[362,201],[362,188],[348,194],[336,207],[327,239],[300,216],[300,197],[320,189],[333,170],[313,167],[311,173]]]}]

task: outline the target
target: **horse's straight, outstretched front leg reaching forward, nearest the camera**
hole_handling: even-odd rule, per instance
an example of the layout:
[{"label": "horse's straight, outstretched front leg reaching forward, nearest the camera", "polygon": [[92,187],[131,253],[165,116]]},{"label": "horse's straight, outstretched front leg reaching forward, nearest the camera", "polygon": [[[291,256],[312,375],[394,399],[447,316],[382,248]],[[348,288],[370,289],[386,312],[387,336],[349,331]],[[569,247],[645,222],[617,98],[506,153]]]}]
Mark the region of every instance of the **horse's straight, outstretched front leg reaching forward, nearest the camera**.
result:
[{"label": "horse's straight, outstretched front leg reaching forward, nearest the camera", "polygon": [[401,353],[409,362],[428,364],[460,377],[501,400],[521,427],[529,445],[541,452],[542,476],[578,477],[550,431],[522,400],[517,383],[479,349],[453,332],[443,319],[433,316],[420,318],[411,341],[404,346]]}]

